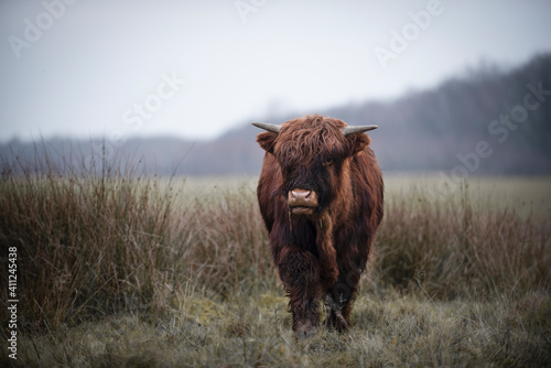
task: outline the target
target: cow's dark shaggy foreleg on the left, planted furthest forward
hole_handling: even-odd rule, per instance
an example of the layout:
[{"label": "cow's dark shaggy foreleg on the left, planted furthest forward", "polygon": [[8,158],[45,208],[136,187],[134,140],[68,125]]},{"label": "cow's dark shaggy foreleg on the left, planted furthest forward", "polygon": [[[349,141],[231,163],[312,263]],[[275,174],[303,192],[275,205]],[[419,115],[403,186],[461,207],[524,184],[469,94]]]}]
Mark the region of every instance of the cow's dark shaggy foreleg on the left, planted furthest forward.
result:
[{"label": "cow's dark shaggy foreleg on the left, planted furthest forward", "polygon": [[278,271],[290,297],[296,338],[314,335],[320,325],[318,304],[322,295],[320,266],[316,257],[302,248],[288,247],[278,259]]}]

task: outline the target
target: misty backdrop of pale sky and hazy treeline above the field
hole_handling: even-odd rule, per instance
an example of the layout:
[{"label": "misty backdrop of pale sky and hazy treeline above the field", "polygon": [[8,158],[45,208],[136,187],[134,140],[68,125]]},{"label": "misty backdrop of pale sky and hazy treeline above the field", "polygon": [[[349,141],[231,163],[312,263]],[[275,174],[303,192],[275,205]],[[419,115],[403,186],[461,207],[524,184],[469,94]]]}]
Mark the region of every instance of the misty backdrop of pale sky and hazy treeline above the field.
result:
[{"label": "misty backdrop of pale sky and hazy treeline above the field", "polygon": [[0,156],[257,174],[250,121],[321,113],[378,125],[387,172],[551,174],[550,15],[511,0],[3,1]]}]

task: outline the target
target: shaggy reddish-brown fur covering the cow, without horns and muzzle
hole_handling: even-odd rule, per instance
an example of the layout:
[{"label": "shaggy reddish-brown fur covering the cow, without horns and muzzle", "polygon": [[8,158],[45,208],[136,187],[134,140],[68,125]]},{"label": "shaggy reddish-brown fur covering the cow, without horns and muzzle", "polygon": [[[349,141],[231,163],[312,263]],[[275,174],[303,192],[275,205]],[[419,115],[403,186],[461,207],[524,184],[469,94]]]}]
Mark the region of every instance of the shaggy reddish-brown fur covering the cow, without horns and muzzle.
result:
[{"label": "shaggy reddish-brown fur covering the cow, without horns and muzzle", "polygon": [[[343,127],[338,119],[306,116],[257,138],[267,152],[258,202],[298,338],[311,336],[320,324],[322,297],[326,326],[347,328],[382,218],[383,184],[369,137],[345,137]],[[315,192],[311,215],[291,213],[288,196],[296,188]]]}]

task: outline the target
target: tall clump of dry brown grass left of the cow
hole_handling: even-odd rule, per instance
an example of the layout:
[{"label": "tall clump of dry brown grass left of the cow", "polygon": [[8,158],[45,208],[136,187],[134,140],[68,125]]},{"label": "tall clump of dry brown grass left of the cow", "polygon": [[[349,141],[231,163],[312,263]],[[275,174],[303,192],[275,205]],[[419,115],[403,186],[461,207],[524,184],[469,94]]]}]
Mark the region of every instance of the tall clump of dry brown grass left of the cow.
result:
[{"label": "tall clump of dry brown grass left of the cow", "polygon": [[18,248],[22,327],[162,310],[188,275],[182,260],[195,236],[193,214],[172,208],[171,183],[46,164],[0,182],[0,241]]}]

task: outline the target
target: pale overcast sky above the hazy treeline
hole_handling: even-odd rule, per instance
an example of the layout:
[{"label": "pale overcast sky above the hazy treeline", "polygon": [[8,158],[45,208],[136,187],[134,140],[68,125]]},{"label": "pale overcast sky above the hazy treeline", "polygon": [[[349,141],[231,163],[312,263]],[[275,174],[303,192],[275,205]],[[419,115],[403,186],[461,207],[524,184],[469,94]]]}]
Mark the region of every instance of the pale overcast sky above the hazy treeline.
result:
[{"label": "pale overcast sky above the hazy treeline", "polygon": [[214,138],[521,64],[550,20],[542,0],[3,0],[0,141]]}]

